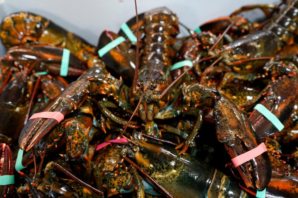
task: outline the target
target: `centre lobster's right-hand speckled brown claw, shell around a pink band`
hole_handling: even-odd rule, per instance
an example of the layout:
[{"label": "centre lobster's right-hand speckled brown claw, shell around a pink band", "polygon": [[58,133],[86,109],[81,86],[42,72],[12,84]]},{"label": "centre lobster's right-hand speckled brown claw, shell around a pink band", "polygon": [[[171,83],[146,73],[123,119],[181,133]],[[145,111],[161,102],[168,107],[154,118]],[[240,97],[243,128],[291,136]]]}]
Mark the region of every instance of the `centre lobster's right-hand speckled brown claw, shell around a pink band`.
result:
[{"label": "centre lobster's right-hand speckled brown claw, shell around a pink band", "polygon": [[[186,98],[191,98],[194,105],[201,105],[208,98],[214,100],[213,120],[217,138],[232,159],[261,143],[244,112],[217,90],[193,84],[184,88],[184,94]],[[237,170],[247,187],[264,190],[271,178],[271,163],[267,152],[237,166]]]}]

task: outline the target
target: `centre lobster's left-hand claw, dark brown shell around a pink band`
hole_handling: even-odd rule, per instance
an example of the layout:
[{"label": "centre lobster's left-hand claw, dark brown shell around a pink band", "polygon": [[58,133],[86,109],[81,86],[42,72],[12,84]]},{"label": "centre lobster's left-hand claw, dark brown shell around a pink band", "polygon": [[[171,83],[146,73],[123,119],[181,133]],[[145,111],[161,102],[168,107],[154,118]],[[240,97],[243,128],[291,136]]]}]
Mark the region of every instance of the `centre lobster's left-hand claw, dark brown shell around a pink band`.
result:
[{"label": "centre lobster's left-hand claw, dark brown shell around a pink band", "polygon": [[[106,74],[106,71],[100,67],[92,67],[86,70],[78,80],[66,87],[57,97],[40,110],[40,112],[57,111],[65,117],[73,110],[76,110],[84,102],[89,93],[91,82],[87,77],[97,74]],[[57,124],[58,121],[51,118],[29,120],[21,131],[19,147],[22,150],[29,151]]]}]

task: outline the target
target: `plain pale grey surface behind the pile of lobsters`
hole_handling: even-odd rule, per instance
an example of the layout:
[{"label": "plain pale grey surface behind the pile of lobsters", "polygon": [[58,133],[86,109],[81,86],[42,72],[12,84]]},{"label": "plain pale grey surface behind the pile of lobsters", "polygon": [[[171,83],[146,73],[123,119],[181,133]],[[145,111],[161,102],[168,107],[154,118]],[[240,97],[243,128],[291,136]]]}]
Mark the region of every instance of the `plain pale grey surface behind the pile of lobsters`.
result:
[{"label": "plain pale grey surface behind the pile of lobsters", "polygon": [[[189,28],[220,16],[227,16],[243,5],[278,3],[278,0],[138,0],[138,12],[166,6]],[[70,32],[97,45],[105,29],[117,32],[122,23],[135,15],[133,0],[0,0],[0,19],[18,11],[40,14]],[[262,15],[250,12],[250,17]],[[186,31],[181,28],[181,34]],[[0,56],[6,49],[0,44]]]}]

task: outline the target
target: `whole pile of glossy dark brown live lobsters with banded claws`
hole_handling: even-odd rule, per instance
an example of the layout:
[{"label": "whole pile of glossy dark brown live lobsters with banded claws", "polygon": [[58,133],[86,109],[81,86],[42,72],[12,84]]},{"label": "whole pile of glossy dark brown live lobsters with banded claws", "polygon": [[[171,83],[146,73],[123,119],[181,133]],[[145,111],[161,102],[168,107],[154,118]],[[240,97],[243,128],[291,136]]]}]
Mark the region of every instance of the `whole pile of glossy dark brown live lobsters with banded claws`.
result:
[{"label": "whole pile of glossy dark brown live lobsters with banded claws", "polygon": [[[266,19],[241,16],[255,8]],[[196,31],[136,6],[97,47],[40,15],[6,16],[0,196],[297,197],[297,36],[298,0]]]}]

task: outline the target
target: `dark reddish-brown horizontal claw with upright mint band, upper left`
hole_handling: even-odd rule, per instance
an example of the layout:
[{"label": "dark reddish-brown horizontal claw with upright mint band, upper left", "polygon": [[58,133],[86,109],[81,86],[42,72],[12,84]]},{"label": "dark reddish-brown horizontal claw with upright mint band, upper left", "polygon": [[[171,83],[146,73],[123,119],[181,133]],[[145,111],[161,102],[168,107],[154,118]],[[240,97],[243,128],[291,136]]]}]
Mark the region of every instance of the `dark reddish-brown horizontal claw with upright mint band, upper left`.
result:
[{"label": "dark reddish-brown horizontal claw with upright mint band, upper left", "polygon": [[[34,64],[35,71],[48,71],[55,75],[60,74],[62,54],[63,48],[52,45],[20,45],[11,47],[7,51],[7,55],[14,58],[18,64],[26,66],[28,63],[32,65],[39,63]],[[87,69],[86,64],[70,53],[67,75],[79,76]]]}]

